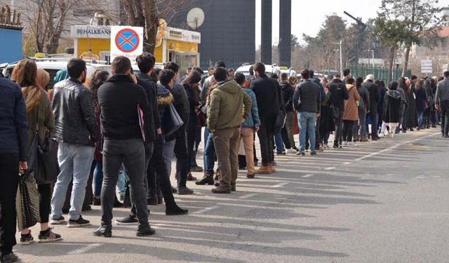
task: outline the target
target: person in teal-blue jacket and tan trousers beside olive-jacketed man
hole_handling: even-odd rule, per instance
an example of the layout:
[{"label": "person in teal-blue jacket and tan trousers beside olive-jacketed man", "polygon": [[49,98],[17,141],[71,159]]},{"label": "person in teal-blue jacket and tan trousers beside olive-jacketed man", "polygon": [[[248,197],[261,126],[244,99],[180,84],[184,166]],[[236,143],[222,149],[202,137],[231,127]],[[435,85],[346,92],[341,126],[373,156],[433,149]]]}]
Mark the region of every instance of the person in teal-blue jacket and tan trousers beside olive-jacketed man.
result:
[{"label": "person in teal-blue jacket and tan trousers beside olive-jacketed man", "polygon": [[246,118],[245,121],[241,123],[239,147],[241,141],[243,140],[246,157],[246,177],[254,178],[254,134],[257,133],[257,130],[259,130],[260,127],[259,112],[257,110],[257,100],[255,98],[255,93],[253,92],[253,90],[250,90],[249,88],[245,88],[243,86],[243,84],[245,83],[245,75],[243,75],[242,73],[237,73],[234,76],[234,80],[241,86],[241,88],[243,88],[243,91],[248,96],[250,96],[251,100],[253,101],[253,104],[251,104],[251,112],[248,118]]}]

